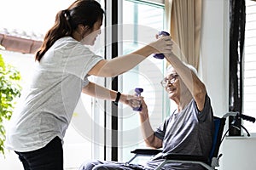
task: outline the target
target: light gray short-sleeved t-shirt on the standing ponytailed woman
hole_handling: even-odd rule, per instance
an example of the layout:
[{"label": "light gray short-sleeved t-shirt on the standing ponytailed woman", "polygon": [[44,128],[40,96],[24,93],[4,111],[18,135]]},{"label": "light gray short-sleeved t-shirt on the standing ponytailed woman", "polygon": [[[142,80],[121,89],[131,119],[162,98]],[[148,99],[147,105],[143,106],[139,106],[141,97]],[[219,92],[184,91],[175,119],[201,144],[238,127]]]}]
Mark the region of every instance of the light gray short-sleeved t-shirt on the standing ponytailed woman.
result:
[{"label": "light gray short-sleeved t-shirt on the standing ponytailed woman", "polygon": [[7,129],[6,147],[37,150],[55,136],[64,138],[87,73],[102,57],[72,37],[63,37],[44,54],[22,94]]}]

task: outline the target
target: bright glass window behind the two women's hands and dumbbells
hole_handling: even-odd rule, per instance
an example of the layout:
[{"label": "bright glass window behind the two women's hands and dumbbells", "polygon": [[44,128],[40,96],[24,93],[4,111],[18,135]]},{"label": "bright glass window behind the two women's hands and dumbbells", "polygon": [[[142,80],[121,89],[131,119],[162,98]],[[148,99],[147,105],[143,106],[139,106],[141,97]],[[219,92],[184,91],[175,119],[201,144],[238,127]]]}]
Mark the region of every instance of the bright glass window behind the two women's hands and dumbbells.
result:
[{"label": "bright glass window behind the two women's hands and dumbbells", "polygon": [[[142,47],[148,42],[154,41],[154,35],[164,29],[164,5],[160,3],[146,3],[145,1],[123,1],[122,23],[122,54]],[[165,59],[154,59],[149,56],[131,71],[126,72],[120,80],[124,93],[134,94],[134,88],[143,88],[143,97],[148,105],[148,114],[153,129],[160,125],[166,104],[164,88],[160,86],[163,71],[166,69]],[[128,161],[131,150],[145,147],[140,129],[137,111],[131,108],[121,109],[119,117],[119,161]],[[119,114],[120,115],[120,114]]]}]

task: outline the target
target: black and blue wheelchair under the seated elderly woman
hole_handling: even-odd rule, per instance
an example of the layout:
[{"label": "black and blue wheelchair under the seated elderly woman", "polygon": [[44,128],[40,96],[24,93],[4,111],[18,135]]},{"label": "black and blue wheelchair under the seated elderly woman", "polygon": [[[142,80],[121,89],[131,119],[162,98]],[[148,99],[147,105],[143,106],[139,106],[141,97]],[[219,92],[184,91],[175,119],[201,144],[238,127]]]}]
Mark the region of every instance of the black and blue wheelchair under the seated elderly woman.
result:
[{"label": "black and blue wheelchair under the seated elderly woman", "polygon": [[[242,115],[239,112],[228,112],[223,117],[214,116],[214,134],[213,134],[213,141],[212,141],[212,149],[210,155],[206,158],[204,156],[193,156],[193,155],[182,155],[182,154],[174,154],[174,153],[167,153],[162,156],[164,161],[160,163],[156,170],[161,169],[161,167],[165,166],[166,163],[169,162],[183,162],[183,163],[194,163],[200,164],[202,167],[205,167],[208,170],[215,170],[215,167],[219,167],[219,158],[222,154],[219,153],[220,144],[222,143],[224,137],[228,133],[229,129],[226,133],[224,133],[224,126],[226,122],[226,118],[228,116],[234,116],[235,119],[231,123],[232,126],[238,127],[236,121],[239,119],[243,119],[249,122],[255,122],[255,118],[251,116]],[[247,129],[242,125],[239,125],[238,128],[243,128],[246,132]],[[249,133],[247,132],[247,136]],[[131,157],[126,164],[130,164],[137,156],[154,156],[160,153],[162,150],[155,150],[155,149],[136,149],[132,150],[131,153],[135,154],[135,156]]]}]

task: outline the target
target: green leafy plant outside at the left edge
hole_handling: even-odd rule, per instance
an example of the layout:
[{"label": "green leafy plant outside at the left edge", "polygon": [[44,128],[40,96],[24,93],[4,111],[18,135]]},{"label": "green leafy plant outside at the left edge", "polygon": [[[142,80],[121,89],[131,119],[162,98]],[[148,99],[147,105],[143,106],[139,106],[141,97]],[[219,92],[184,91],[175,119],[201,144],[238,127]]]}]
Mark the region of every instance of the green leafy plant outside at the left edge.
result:
[{"label": "green leafy plant outside at the left edge", "polygon": [[15,99],[20,97],[21,87],[20,71],[15,67],[4,63],[2,54],[0,54],[0,152],[4,155],[5,128],[4,120],[9,120],[12,116]]}]

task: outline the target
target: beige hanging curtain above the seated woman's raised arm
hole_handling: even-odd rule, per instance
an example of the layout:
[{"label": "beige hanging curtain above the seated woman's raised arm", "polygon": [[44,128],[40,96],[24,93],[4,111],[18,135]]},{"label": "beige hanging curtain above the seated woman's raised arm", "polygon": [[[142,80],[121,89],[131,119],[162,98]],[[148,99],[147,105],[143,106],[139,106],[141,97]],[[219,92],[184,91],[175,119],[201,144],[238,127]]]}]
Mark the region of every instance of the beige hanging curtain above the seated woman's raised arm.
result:
[{"label": "beige hanging curtain above the seated woman's raised arm", "polygon": [[166,0],[166,28],[177,42],[181,59],[198,70],[201,46],[201,0]]}]

